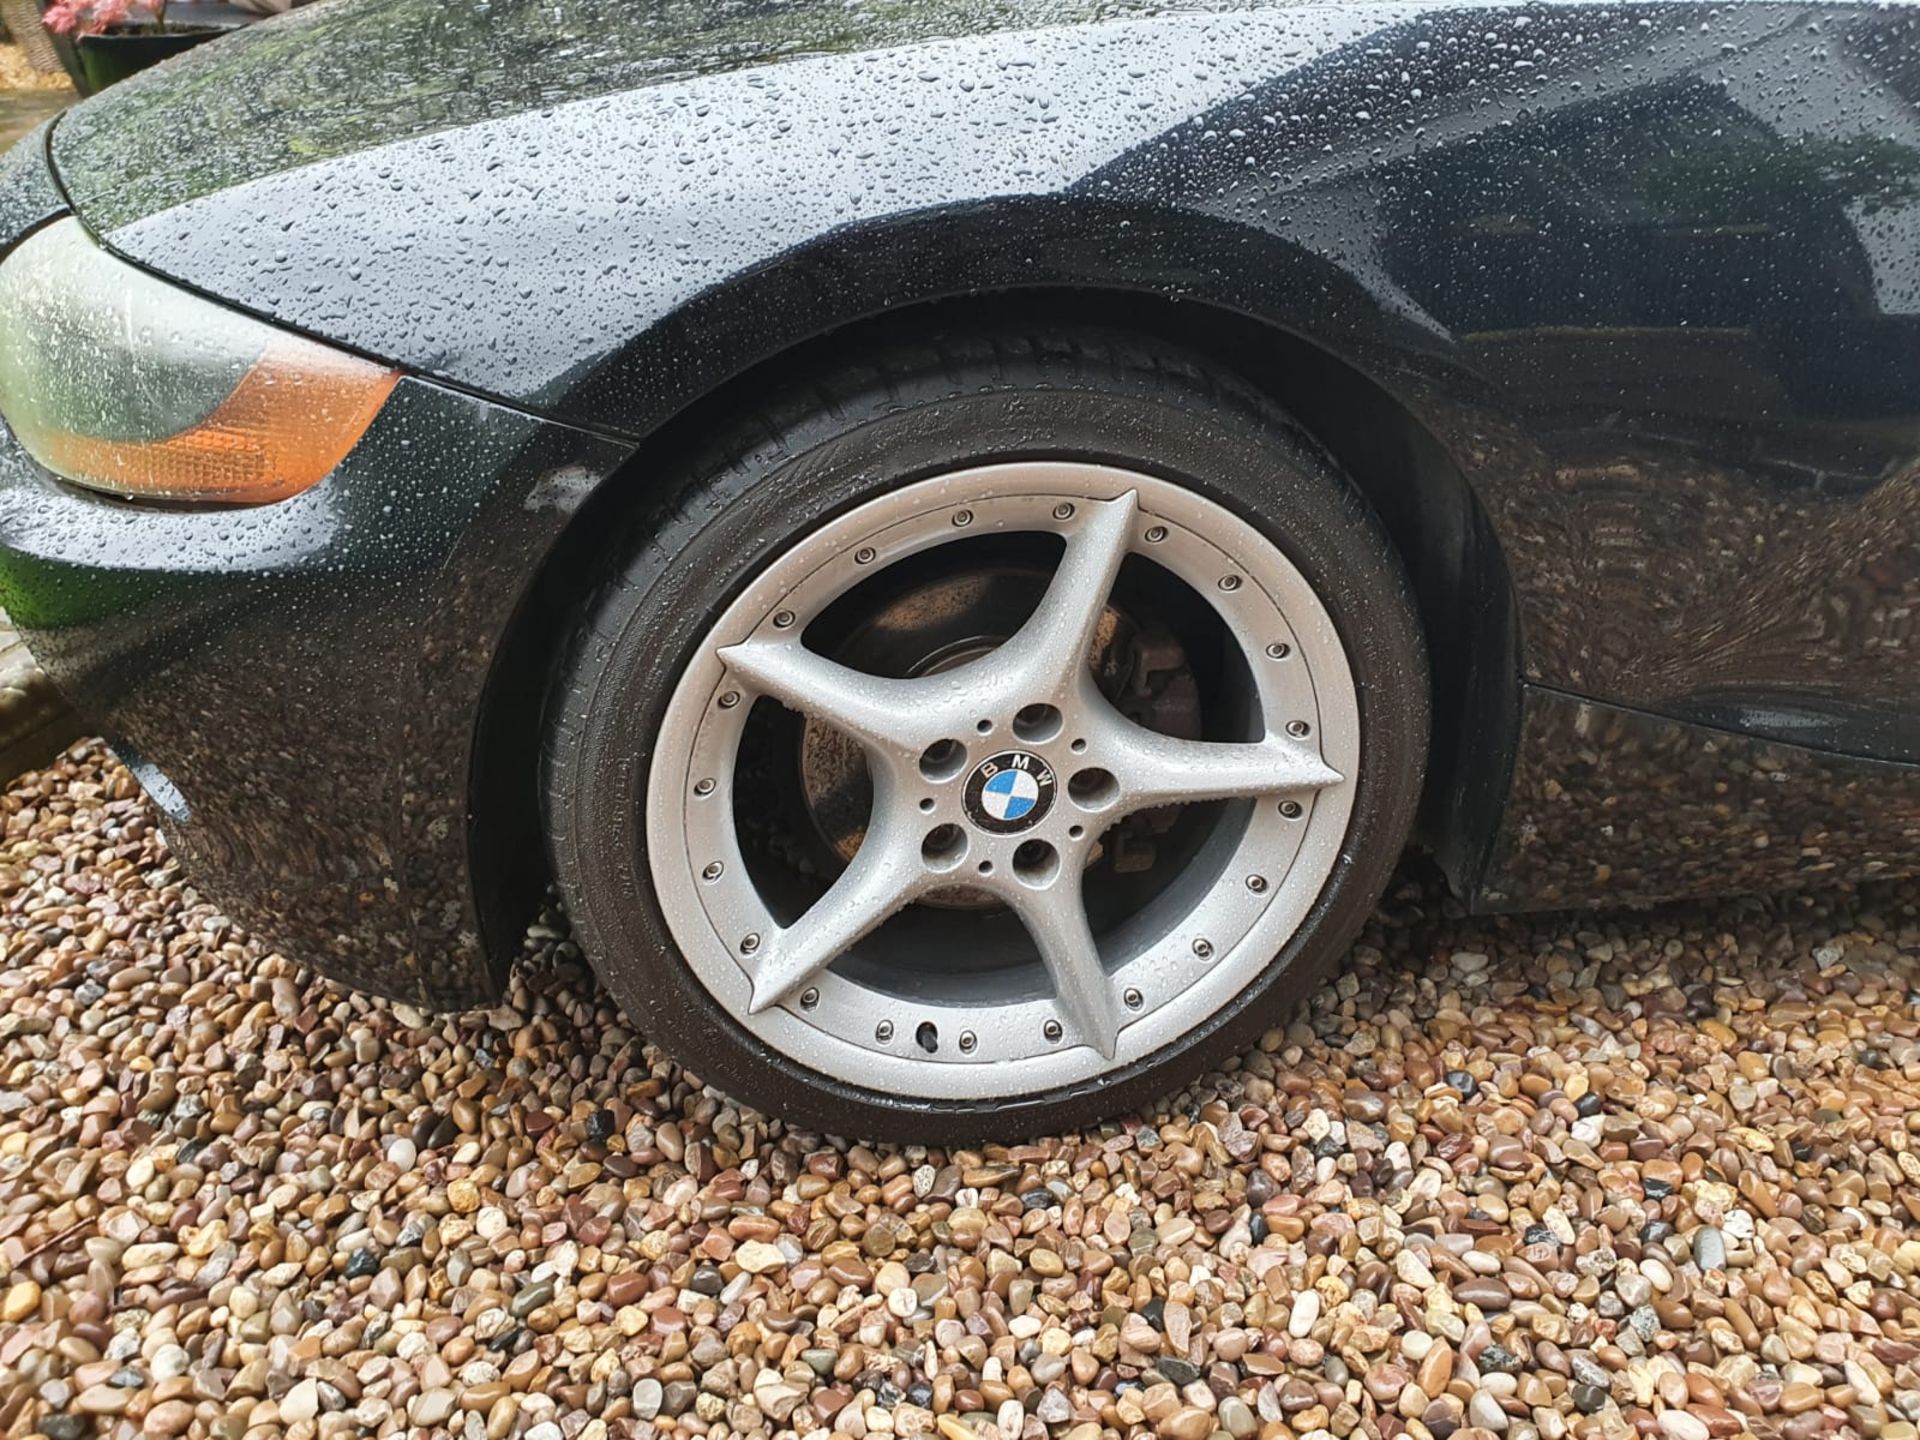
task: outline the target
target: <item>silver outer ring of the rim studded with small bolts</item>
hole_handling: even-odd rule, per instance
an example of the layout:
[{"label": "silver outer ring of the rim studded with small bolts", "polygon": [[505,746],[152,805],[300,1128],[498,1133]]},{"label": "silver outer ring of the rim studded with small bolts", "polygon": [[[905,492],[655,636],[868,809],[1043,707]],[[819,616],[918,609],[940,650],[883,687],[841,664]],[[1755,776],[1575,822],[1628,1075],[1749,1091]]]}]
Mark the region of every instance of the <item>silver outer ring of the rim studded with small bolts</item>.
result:
[{"label": "silver outer ring of the rim studded with small bolts", "polygon": [[[804,630],[826,603],[868,574],[979,534],[952,526],[950,516],[962,507],[973,507],[983,528],[1060,532],[1060,524],[1010,522],[1008,516],[1044,516],[1048,503],[1108,501],[1129,490],[1139,493],[1139,532],[1158,524],[1177,541],[1148,549],[1137,532],[1133,551],[1173,570],[1212,605],[1246,655],[1269,728],[1281,712],[1309,718],[1323,758],[1342,780],[1304,793],[1306,812],[1298,820],[1283,822],[1273,806],[1244,806],[1250,816],[1244,831],[1229,839],[1215,831],[1208,841],[1219,851],[1221,870],[1192,906],[1192,924],[1171,927],[1152,945],[1142,941],[1137,950],[1119,947],[1114,952],[1119,964],[1108,970],[1116,989],[1137,987],[1144,1002],[1139,1012],[1127,1012],[1129,1023],[1119,1031],[1112,1060],[1071,1037],[1048,1041],[1044,1018],[1054,1010],[1044,996],[991,1006],[902,1000],[828,972],[818,979],[810,1008],[789,996],[751,1014],[751,956],[739,954],[735,939],[753,933],[745,927],[758,922],[741,910],[741,887],[755,891],[733,839],[732,781],[733,747],[753,707],[743,699],[732,710],[718,708],[718,695],[730,682],[716,651],[743,641],[781,609],[795,611],[795,630]],[[864,547],[876,557],[858,564],[852,557]],[[1206,586],[1208,572],[1221,572],[1221,566],[1248,584],[1231,595]],[[1263,647],[1252,643],[1275,637],[1290,645],[1288,659],[1279,664],[1265,660]],[[1021,747],[1004,726],[979,743],[962,739],[968,741],[966,772],[989,755]],[[1071,461],[983,465],[902,486],[789,540],[722,611],[664,710],[649,774],[647,864],[685,964],[755,1041],[804,1069],[877,1094],[924,1102],[1000,1100],[1125,1069],[1229,1010],[1292,939],[1332,877],[1359,764],[1359,701],[1346,649],[1325,603],[1275,541],[1219,501],[1152,474]],[[695,781],[707,776],[716,781],[712,793],[695,795]],[[720,858],[722,879],[733,877],[732,885],[703,881],[710,856]],[[1188,868],[1200,864],[1196,858]],[[1248,889],[1242,874],[1260,874],[1265,891]],[[758,916],[772,924],[764,902]],[[1204,960],[1194,954],[1200,939],[1213,941]],[[893,1031],[885,1041],[877,1037],[876,1016],[891,1016]],[[945,1041],[935,1056],[914,1043],[922,1020],[935,1023]],[[962,1029],[975,1037],[968,1052],[956,1043]]]}]

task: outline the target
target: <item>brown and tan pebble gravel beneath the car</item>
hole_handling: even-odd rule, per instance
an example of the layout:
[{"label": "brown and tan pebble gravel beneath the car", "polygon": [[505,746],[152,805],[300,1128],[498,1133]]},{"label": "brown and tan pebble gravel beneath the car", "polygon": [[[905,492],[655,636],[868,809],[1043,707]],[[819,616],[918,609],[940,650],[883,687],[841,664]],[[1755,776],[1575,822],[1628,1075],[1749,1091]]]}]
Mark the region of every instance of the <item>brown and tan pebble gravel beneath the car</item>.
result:
[{"label": "brown and tan pebble gravel beneath the car", "polygon": [[1229,1073],[970,1152],[787,1131],[557,925],[430,1020],[4,797],[0,1430],[1914,1440],[1920,885],[1467,920]]}]

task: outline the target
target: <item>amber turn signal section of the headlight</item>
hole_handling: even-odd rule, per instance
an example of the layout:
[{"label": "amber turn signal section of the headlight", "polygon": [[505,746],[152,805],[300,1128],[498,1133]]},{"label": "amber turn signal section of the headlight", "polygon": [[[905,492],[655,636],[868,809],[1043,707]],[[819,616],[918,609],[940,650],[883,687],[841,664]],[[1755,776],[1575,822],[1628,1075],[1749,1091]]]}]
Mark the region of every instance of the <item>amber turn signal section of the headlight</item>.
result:
[{"label": "amber turn signal section of the headlight", "polygon": [[117,495],[265,505],[324,480],[397,382],[397,371],[355,355],[275,342],[227,399],[177,436],[50,432],[35,449],[54,474]]}]

